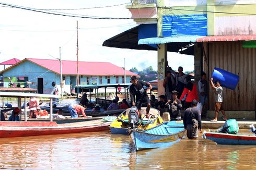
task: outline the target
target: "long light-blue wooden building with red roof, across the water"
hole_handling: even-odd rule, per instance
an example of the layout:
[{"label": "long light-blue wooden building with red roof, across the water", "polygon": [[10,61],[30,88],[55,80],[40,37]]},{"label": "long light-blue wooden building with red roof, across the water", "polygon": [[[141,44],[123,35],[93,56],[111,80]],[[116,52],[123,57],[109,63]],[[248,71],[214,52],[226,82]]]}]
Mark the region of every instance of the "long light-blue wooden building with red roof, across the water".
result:
[{"label": "long light-blue wooden building with red roof, across the water", "polygon": [[[124,83],[124,70],[107,62],[79,62],[79,84],[118,84]],[[0,71],[4,87],[29,87],[37,89],[38,93],[50,94],[54,81],[60,87],[60,61],[53,59],[25,58],[20,62]],[[76,61],[62,60],[63,91],[71,92],[77,84]],[[131,76],[138,76],[125,70],[125,80],[130,82]]]}]

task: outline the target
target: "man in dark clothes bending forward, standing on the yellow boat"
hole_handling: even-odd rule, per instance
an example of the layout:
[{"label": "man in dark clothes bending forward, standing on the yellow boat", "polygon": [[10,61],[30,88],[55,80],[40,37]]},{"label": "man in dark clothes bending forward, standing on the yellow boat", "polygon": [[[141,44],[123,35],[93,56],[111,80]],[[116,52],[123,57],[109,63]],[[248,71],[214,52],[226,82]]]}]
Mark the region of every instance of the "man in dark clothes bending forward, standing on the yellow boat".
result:
[{"label": "man in dark clothes bending forward, standing on the yellow boat", "polygon": [[147,103],[146,114],[150,111],[150,100],[147,95],[147,91],[144,89],[143,86],[149,87],[152,89],[152,85],[150,83],[146,83],[144,81],[138,80],[136,76],[132,76],[131,78],[131,86],[130,86],[130,93],[131,93],[131,103],[132,106],[135,106],[135,95],[136,95],[136,107],[139,111],[139,117],[141,117],[141,107],[142,103]]}]

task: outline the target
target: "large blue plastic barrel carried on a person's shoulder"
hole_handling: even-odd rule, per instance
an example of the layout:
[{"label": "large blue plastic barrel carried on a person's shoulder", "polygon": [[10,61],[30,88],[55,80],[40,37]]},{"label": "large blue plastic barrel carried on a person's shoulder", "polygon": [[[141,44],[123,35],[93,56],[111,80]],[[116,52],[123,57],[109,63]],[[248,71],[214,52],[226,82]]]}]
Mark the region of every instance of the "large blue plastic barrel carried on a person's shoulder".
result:
[{"label": "large blue plastic barrel carried on a person's shoulder", "polygon": [[239,76],[216,67],[213,70],[212,78],[213,82],[219,80],[221,86],[231,90],[236,89],[237,83],[239,81]]}]

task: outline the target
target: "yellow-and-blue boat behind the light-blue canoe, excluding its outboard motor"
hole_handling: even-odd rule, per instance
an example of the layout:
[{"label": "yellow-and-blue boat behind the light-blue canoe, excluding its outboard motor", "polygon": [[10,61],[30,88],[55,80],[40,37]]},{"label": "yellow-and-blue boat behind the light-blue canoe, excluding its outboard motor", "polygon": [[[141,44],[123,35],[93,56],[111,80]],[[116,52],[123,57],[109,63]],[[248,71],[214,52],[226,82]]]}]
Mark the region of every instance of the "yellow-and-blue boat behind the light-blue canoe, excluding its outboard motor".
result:
[{"label": "yellow-and-blue boat behind the light-blue canoe, excluding its outboard motor", "polygon": [[[121,113],[117,119],[115,119],[112,124],[109,126],[112,134],[129,134],[129,112],[131,108],[127,108],[123,113]],[[150,108],[149,114],[153,115],[149,120],[145,118],[146,107],[142,107],[142,118],[140,121],[137,130],[145,130],[155,127],[163,123],[162,118],[160,117],[160,112],[155,108]]]}]

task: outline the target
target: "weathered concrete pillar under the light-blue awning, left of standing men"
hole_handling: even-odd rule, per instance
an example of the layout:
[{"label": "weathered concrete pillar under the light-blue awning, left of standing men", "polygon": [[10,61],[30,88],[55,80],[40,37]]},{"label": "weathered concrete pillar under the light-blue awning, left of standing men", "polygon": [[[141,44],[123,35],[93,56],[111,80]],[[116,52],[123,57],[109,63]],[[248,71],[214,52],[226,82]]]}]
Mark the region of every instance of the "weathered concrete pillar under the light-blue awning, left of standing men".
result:
[{"label": "weathered concrete pillar under the light-blue awning, left of standing men", "polygon": [[157,50],[157,92],[158,96],[165,94],[165,88],[162,86],[165,79],[165,72],[167,68],[167,44],[158,44]]}]

